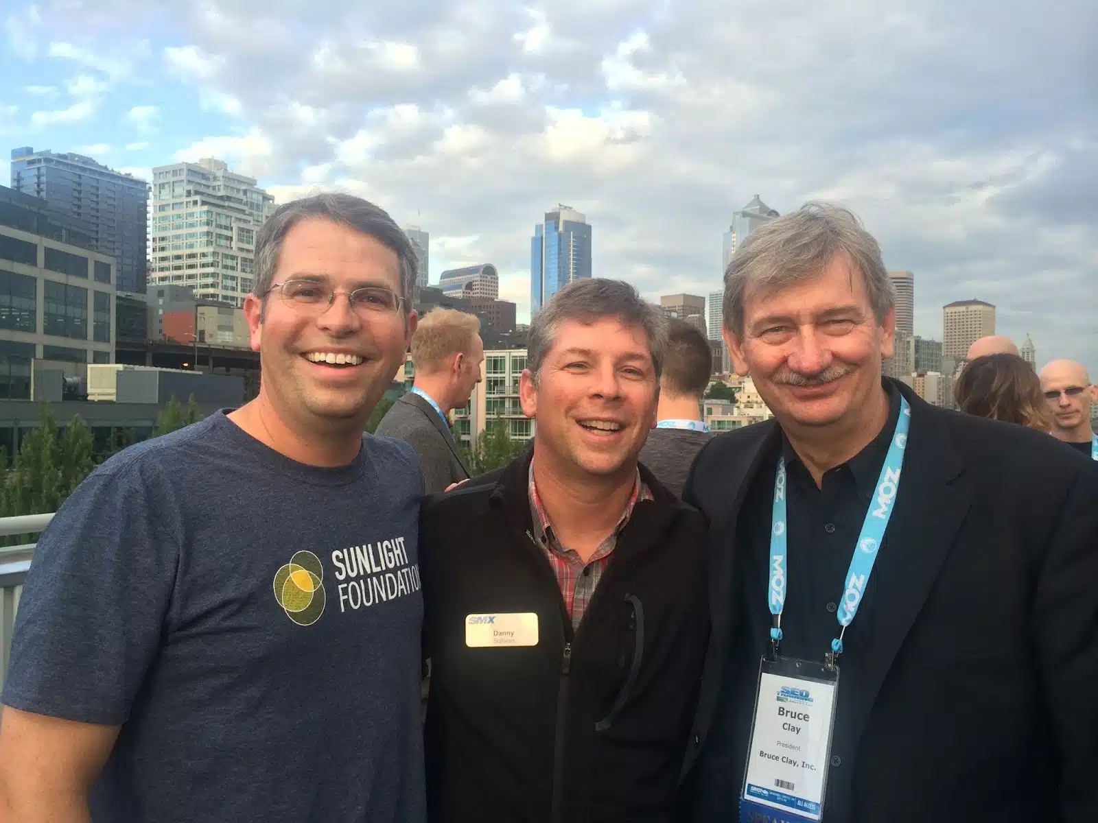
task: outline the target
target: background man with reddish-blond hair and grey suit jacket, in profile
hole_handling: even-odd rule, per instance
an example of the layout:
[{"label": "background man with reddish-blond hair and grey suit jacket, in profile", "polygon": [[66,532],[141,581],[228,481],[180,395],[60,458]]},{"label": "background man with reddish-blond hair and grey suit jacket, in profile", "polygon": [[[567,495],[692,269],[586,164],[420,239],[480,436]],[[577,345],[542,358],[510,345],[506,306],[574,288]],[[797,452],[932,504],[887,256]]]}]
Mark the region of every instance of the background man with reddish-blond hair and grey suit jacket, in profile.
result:
[{"label": "background man with reddish-blond hair and grey suit jacket, in profile", "polygon": [[393,404],[374,433],[408,443],[419,455],[427,494],[445,492],[470,476],[450,431],[450,410],[464,405],[481,380],[484,345],[480,320],[452,308],[436,308],[412,338],[415,383]]}]

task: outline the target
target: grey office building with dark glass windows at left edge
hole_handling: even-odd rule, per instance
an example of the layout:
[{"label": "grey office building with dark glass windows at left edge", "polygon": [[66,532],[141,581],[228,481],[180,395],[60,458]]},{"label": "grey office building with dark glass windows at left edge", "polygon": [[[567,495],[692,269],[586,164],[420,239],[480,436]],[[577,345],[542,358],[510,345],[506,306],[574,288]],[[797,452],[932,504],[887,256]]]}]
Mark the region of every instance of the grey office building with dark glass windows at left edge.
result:
[{"label": "grey office building with dark glass windows at left edge", "polygon": [[59,239],[69,221],[0,187],[0,398],[31,398],[34,360],[114,359],[115,261]]}]

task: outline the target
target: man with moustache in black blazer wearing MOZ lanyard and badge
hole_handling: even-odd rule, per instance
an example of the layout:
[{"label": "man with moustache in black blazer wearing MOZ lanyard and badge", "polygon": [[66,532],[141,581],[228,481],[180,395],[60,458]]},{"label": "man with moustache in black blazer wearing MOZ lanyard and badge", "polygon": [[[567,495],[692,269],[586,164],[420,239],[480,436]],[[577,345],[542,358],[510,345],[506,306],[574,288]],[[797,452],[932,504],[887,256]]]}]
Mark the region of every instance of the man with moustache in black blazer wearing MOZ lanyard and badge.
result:
[{"label": "man with moustache in black blazer wearing MOZ lanyard and badge", "polygon": [[894,294],[845,210],[752,232],[724,316],[775,419],[684,493],[713,604],[684,816],[1094,821],[1098,471],[882,381]]}]

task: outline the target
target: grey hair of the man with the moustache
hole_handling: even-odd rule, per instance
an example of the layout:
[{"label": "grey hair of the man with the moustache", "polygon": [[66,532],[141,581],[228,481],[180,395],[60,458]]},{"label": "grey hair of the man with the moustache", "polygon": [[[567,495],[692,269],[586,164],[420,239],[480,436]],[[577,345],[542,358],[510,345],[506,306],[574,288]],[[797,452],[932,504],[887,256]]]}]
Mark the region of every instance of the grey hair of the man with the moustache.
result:
[{"label": "grey hair of the man with the moustache", "polygon": [[818,277],[837,256],[861,272],[873,314],[883,323],[896,292],[881,246],[850,210],[809,202],[752,230],[736,249],[725,271],[725,325],[742,335],[750,290],[776,290]]}]

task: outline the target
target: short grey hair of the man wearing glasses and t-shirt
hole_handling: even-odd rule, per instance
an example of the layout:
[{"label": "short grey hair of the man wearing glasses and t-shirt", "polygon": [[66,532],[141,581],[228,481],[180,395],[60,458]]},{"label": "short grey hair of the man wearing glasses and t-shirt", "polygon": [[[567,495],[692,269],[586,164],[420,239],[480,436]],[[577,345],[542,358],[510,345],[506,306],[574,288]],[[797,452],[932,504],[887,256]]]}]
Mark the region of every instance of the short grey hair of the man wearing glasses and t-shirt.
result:
[{"label": "short grey hair of the man wearing glasses and t-shirt", "polygon": [[407,235],[389,213],[368,200],[352,194],[321,193],[283,203],[264,223],[256,238],[256,285],[254,293],[266,300],[274,281],[282,243],[287,234],[303,219],[320,217],[360,232],[384,244],[400,258],[401,291],[405,314],[412,311],[417,257]]}]

